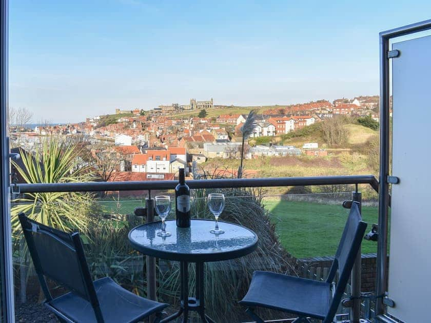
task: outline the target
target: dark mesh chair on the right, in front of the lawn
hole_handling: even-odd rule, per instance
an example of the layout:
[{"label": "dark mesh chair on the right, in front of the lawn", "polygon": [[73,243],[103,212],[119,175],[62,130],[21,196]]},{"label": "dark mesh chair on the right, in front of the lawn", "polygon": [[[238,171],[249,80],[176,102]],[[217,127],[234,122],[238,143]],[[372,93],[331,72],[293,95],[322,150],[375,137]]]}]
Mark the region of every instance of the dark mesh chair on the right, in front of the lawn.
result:
[{"label": "dark mesh chair on the right, in front of the lawn", "polygon": [[[331,322],[340,305],[367,227],[362,221],[358,205],[357,202],[352,203],[326,281],[256,271],[247,294],[240,301],[240,304],[247,307],[247,314],[258,323],[263,323],[254,313],[254,308],[264,307],[296,314],[299,318],[295,322],[309,322],[307,317],[321,319],[324,323]],[[335,284],[337,270],[340,279]]]}]

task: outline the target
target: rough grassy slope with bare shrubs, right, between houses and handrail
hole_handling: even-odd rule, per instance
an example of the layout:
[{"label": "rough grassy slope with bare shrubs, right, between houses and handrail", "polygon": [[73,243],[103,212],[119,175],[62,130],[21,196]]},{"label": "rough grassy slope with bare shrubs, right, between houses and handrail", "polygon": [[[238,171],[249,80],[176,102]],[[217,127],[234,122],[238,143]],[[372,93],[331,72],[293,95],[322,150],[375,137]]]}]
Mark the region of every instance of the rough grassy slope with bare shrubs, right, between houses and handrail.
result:
[{"label": "rough grassy slope with bare shrubs, right, between houses and handrail", "polygon": [[[319,148],[326,148],[328,156],[285,156],[285,157],[259,157],[244,160],[247,170],[257,170],[261,177],[290,177],[290,176],[335,176],[377,174],[378,167],[372,158],[376,147],[374,141],[378,132],[357,124],[347,124],[348,140],[342,147],[328,147],[324,142],[318,127],[312,127],[304,136],[292,136],[283,139],[281,136],[272,138],[273,144],[283,143],[302,148],[304,143],[319,143]],[[255,144],[250,139],[250,144]],[[238,159],[209,159],[202,164],[205,170],[211,173],[213,169],[237,170]],[[283,192],[283,188],[271,189],[274,193]]]}]

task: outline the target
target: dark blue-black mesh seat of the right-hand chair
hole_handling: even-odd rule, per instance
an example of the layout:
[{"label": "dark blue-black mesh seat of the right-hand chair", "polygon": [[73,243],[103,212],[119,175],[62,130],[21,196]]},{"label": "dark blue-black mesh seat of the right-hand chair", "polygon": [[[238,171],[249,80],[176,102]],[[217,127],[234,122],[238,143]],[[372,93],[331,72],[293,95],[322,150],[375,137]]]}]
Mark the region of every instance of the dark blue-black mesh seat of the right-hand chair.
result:
[{"label": "dark blue-black mesh seat of the right-hand chair", "polygon": [[255,271],[240,304],[324,319],[329,310],[330,286],[326,281]]}]

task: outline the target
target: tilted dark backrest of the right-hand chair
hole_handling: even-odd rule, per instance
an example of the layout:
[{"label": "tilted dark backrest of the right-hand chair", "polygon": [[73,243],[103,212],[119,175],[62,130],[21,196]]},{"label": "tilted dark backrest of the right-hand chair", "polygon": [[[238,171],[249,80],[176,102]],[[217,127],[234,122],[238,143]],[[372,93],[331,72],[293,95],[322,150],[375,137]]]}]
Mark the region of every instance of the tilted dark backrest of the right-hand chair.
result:
[{"label": "tilted dark backrest of the right-hand chair", "polygon": [[366,228],[367,224],[362,221],[361,212],[359,211],[359,203],[354,201],[351,204],[350,213],[346,225],[344,226],[340,244],[338,245],[334,262],[332,263],[329,275],[326,279],[327,282],[331,283],[334,281],[337,270],[339,271],[339,280],[335,288],[334,297],[332,297],[329,312],[324,320],[325,323],[329,323],[334,319]]}]

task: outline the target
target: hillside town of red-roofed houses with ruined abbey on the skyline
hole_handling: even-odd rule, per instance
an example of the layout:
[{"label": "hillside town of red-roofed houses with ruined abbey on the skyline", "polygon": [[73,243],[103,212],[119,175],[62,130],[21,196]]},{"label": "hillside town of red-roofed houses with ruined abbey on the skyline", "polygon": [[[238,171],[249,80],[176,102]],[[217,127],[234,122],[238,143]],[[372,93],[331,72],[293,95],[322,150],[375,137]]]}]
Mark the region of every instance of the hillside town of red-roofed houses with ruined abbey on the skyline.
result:
[{"label": "hillside town of red-roofed houses with ruined abbey on the skyline", "polygon": [[[83,162],[91,159],[95,167],[104,168],[103,180],[173,179],[180,168],[185,168],[191,176],[193,164],[199,165],[213,158],[240,158],[242,126],[247,114],[223,114],[227,108],[214,106],[212,98],[206,101],[190,99],[189,105],[161,105],[149,111],[117,108],[112,111],[114,114],[88,117],[82,123],[38,125],[31,131],[12,127],[11,144],[33,151],[42,137],[61,136],[86,143],[89,157]],[[285,135],[341,115],[371,116],[378,121],[378,110],[378,96],[340,98],[332,103],[318,100],[261,109],[249,140]],[[182,115],[190,111],[196,114]],[[210,111],[221,113],[215,117],[206,116]],[[317,143],[293,147],[275,145],[272,140],[269,145],[251,146],[246,142],[244,147],[246,159],[298,155],[325,156],[327,152],[319,149]]]}]

